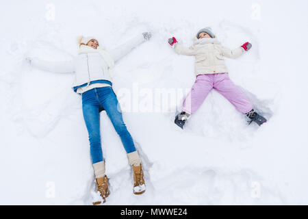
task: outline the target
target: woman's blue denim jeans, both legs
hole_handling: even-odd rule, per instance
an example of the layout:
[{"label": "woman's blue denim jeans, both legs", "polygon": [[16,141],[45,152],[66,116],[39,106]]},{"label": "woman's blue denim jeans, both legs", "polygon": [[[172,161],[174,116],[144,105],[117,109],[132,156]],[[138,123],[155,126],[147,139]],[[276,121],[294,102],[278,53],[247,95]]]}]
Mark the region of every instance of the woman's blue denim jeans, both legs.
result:
[{"label": "woman's blue denim jeans, both legs", "polygon": [[114,129],[120,136],[125,151],[127,153],[136,151],[131,134],[127,131],[127,127],[123,122],[120,105],[114,90],[111,87],[93,88],[82,94],[82,112],[88,129],[93,164],[103,161],[99,129],[99,113],[103,110],[106,111],[112,125],[114,125]]}]

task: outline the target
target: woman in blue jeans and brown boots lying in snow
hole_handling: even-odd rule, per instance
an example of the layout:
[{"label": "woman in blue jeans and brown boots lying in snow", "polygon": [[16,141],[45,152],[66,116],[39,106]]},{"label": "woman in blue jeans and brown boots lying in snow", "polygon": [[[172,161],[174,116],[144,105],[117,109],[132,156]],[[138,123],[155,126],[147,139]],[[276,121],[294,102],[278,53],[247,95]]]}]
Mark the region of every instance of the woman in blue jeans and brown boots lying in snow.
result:
[{"label": "woman in blue jeans and brown boots lying in snow", "polygon": [[[57,73],[75,73],[73,90],[82,97],[82,110],[84,120],[88,129],[90,140],[90,153],[94,168],[97,191],[99,191],[105,203],[109,196],[108,179],[105,175],[105,161],[101,149],[101,134],[99,128],[99,113],[106,111],[114,125],[114,129],[120,136],[123,146],[127,152],[129,164],[133,168],[133,193],[142,194],[145,191],[143,170],[140,157],[136,151],[133,139],[123,122],[122,113],[118,105],[118,99],[112,90],[112,78],[110,75],[114,62],[129,53],[145,40],[151,38],[151,33],[145,32],[136,36],[108,53],[99,47],[99,42],[94,37],[79,38],[79,51],[77,57],[70,62],[47,62],[36,57],[26,57],[32,65],[42,70]],[[93,203],[101,204],[101,201]]]}]

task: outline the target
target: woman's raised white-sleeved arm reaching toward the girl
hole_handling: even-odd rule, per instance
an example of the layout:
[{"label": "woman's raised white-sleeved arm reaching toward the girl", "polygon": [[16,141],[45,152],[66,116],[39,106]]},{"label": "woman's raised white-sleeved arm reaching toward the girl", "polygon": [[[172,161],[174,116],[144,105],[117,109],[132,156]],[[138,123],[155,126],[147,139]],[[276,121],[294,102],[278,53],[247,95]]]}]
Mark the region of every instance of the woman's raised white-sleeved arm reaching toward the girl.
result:
[{"label": "woman's raised white-sleeved arm reaching toward the girl", "polygon": [[150,32],[144,32],[138,36],[135,36],[131,40],[128,40],[124,44],[112,49],[110,51],[110,55],[114,58],[114,62],[117,62],[122,57],[127,55],[133,48],[138,47],[138,45],[142,44],[142,42],[149,40],[151,38]]}]

